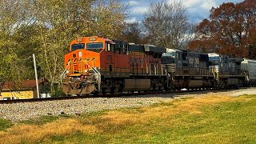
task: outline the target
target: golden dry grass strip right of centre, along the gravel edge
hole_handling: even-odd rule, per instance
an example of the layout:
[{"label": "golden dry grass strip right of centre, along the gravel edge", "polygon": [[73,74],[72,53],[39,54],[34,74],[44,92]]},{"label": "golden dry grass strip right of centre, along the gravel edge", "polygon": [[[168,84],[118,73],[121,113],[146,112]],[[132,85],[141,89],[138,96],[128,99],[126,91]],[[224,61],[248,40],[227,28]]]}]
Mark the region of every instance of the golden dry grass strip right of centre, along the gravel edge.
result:
[{"label": "golden dry grass strip right of centre, along the gravel edge", "polygon": [[[200,106],[213,106],[222,102],[232,102],[236,99],[230,96],[218,96],[218,94],[207,94],[200,97],[191,97],[178,99],[177,101],[170,102],[170,106],[166,104],[158,105],[156,107],[146,106],[141,108],[141,113],[127,113],[122,110],[111,110],[110,112],[101,116],[107,122],[112,124],[122,123],[145,123],[151,118],[166,118],[171,115],[189,113],[189,114],[202,114]],[[131,110],[133,111],[133,110]]]}]

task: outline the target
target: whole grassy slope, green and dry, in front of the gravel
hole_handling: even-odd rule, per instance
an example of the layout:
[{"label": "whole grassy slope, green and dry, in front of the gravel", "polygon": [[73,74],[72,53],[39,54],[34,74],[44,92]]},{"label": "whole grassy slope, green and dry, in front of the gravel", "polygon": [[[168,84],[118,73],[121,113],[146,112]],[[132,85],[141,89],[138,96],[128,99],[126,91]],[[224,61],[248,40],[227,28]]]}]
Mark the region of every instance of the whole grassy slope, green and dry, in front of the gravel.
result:
[{"label": "whole grassy slope, green and dry, in front of the gravel", "polygon": [[22,125],[0,121],[0,142],[256,143],[255,111],[256,95],[212,94],[79,117],[42,117]]}]

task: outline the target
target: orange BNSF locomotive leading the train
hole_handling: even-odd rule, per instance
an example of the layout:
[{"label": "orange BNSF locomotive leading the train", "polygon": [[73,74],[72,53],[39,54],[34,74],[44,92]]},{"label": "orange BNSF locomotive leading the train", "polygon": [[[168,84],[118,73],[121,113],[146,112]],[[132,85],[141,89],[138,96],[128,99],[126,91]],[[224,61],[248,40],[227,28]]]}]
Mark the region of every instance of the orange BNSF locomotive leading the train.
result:
[{"label": "orange BNSF locomotive leading the train", "polygon": [[65,94],[114,94],[164,90],[168,74],[161,65],[165,48],[135,45],[99,37],[70,42],[65,55]]}]

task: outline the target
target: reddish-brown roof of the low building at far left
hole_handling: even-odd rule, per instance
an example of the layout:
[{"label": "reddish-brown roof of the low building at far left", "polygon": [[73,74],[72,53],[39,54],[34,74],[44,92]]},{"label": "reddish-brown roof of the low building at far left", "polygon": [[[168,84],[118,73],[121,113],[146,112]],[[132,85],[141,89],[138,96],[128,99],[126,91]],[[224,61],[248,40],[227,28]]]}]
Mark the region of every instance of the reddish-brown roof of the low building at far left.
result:
[{"label": "reddish-brown roof of the low building at far left", "polygon": [[[38,79],[38,85],[41,83],[46,82],[44,78]],[[2,90],[14,90],[15,88],[19,88],[19,89],[33,89],[34,87],[36,87],[36,81],[35,79],[33,80],[24,80],[21,83],[19,83],[18,85],[15,85],[14,82],[5,82]]]}]

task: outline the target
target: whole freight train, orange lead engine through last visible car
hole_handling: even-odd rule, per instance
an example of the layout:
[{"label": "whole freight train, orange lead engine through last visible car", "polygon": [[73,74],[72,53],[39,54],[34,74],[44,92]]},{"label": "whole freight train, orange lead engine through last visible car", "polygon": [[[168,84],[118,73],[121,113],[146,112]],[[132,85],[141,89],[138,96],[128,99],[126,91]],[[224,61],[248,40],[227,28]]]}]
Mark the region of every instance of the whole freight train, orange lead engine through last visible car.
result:
[{"label": "whole freight train, orange lead engine through last visible car", "polygon": [[189,50],[82,37],[70,42],[62,73],[65,94],[255,86],[256,61]]}]

